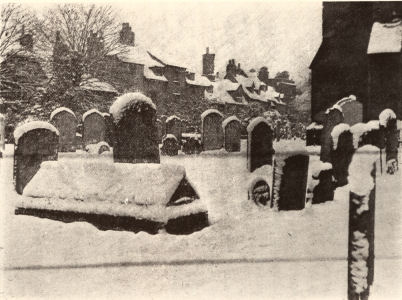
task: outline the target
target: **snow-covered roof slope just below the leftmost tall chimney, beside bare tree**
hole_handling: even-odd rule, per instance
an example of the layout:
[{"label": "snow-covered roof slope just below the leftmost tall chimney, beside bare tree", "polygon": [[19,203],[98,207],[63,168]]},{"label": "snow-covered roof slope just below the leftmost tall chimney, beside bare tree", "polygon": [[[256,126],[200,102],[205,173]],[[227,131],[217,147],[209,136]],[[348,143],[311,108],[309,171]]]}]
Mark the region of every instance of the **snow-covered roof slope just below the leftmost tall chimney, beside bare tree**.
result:
[{"label": "snow-covered roof slope just below the leftmost tall chimney, beside bare tree", "polygon": [[154,60],[148,51],[140,45],[127,46],[121,44],[117,49],[110,52],[109,55],[116,55],[119,60],[126,63],[148,67],[163,67],[163,64]]}]

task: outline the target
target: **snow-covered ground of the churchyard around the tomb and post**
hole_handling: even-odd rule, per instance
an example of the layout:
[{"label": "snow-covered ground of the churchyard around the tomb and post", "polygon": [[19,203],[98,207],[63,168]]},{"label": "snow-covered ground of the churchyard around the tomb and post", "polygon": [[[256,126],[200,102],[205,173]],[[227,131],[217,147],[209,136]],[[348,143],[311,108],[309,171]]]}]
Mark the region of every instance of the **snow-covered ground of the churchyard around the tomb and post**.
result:
[{"label": "snow-covered ground of the churchyard around the tomb and post", "polygon": [[[346,299],[347,187],[336,191],[335,201],[303,211],[256,207],[247,200],[251,175],[244,146],[240,154],[161,157],[185,166],[208,203],[211,226],[189,236],[103,232],[87,223],[15,216],[8,147],[0,160],[0,296]],[[318,149],[309,150],[311,161],[317,160]],[[110,153],[83,152],[60,154],[59,160],[84,157],[112,160]],[[370,299],[402,299],[400,174],[377,178]]]}]

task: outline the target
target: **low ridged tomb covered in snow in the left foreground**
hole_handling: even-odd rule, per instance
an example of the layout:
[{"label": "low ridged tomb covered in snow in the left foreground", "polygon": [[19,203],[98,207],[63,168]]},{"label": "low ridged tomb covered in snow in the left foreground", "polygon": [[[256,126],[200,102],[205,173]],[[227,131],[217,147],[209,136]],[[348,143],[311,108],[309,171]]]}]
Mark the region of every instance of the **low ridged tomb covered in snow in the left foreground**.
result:
[{"label": "low ridged tomb covered in snow in the left foreground", "polygon": [[186,234],[208,226],[205,202],[178,165],[44,162],[21,199],[16,214],[100,229]]}]

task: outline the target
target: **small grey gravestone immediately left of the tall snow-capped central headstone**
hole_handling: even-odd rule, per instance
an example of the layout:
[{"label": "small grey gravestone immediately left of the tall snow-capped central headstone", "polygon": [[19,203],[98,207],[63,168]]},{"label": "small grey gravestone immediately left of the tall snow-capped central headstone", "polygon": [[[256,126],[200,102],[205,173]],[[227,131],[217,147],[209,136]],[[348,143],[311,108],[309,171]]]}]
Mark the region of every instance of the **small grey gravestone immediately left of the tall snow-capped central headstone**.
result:
[{"label": "small grey gravestone immediately left of the tall snow-capped central headstone", "polygon": [[90,144],[97,144],[105,140],[105,118],[98,110],[88,110],[82,115],[82,122],[82,142],[84,147]]}]

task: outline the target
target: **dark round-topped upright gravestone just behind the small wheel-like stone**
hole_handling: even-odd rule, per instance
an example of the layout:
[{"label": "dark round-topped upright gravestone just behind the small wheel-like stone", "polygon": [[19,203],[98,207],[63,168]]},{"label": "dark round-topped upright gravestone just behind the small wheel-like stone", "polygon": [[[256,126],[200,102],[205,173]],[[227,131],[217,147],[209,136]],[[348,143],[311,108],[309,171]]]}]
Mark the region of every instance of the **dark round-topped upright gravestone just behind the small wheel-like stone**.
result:
[{"label": "dark round-topped upright gravestone just behind the small wheel-like stone", "polygon": [[272,165],[272,129],[263,117],[251,120],[247,126],[247,169],[253,172],[263,165]]}]

